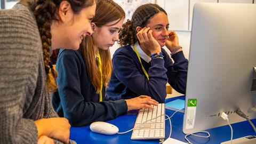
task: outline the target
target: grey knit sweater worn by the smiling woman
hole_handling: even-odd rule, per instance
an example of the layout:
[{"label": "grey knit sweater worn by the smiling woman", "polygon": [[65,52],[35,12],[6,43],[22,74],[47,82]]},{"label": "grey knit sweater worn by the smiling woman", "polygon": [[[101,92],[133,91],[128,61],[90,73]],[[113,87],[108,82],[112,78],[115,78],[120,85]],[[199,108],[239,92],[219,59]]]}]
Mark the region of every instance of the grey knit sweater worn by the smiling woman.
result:
[{"label": "grey knit sweater worn by the smiling woman", "polygon": [[58,115],[45,91],[35,17],[21,4],[0,10],[0,143],[37,143],[34,121],[50,117]]}]

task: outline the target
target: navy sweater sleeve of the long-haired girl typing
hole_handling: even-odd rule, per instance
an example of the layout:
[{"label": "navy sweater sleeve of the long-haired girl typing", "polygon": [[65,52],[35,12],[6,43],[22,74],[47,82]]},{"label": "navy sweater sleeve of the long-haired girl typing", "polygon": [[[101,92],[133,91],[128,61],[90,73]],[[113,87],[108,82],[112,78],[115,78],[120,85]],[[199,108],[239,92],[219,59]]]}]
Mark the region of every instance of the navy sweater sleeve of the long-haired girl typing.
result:
[{"label": "navy sweater sleeve of the long-haired girl typing", "polygon": [[[68,51],[64,50],[59,54],[56,67],[58,71],[58,94],[55,95],[59,95],[63,116],[69,120],[70,124],[83,126],[95,121],[113,119],[126,113],[127,105],[123,99],[102,102],[85,100],[86,97],[93,96],[81,93],[83,86],[80,85],[81,79],[79,77],[83,75],[81,73],[82,61],[75,51]],[[87,81],[90,82],[89,77],[87,78]]]}]

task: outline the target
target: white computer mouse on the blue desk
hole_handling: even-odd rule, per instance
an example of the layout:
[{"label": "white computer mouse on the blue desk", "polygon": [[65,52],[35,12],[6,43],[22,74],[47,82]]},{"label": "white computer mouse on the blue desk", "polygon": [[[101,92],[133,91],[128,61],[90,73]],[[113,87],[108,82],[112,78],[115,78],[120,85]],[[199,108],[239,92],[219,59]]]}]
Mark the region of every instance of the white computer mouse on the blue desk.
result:
[{"label": "white computer mouse on the blue desk", "polygon": [[118,127],[116,127],[113,124],[106,123],[106,122],[91,123],[90,129],[93,132],[107,134],[107,135],[113,135],[119,131]]}]

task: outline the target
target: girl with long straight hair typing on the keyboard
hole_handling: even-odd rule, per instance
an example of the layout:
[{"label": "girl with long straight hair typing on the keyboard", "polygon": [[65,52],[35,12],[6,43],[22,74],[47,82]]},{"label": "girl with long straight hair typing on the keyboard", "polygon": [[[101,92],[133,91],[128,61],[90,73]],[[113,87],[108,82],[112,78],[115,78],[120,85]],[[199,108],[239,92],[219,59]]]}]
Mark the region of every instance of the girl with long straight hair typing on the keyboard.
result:
[{"label": "girl with long straight hair typing on the keyboard", "polygon": [[112,62],[109,47],[118,41],[124,10],[112,0],[98,0],[92,21],[94,33],[86,36],[78,51],[61,49],[56,68],[58,92],[53,107],[72,126],[107,121],[127,110],[153,108],[157,102],[146,95],[127,100],[105,99]]}]

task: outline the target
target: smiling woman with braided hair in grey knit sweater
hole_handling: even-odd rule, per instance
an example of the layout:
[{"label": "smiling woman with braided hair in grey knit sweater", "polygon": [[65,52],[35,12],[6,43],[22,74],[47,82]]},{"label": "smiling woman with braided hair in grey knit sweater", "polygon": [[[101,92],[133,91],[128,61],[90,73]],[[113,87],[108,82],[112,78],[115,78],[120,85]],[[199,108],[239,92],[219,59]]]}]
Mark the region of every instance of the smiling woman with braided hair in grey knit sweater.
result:
[{"label": "smiling woman with braided hair in grey knit sweater", "polygon": [[53,110],[52,50],[93,33],[96,0],[22,0],[0,10],[0,143],[74,143]]}]

